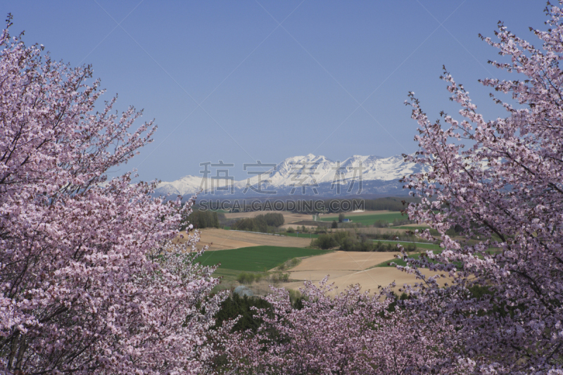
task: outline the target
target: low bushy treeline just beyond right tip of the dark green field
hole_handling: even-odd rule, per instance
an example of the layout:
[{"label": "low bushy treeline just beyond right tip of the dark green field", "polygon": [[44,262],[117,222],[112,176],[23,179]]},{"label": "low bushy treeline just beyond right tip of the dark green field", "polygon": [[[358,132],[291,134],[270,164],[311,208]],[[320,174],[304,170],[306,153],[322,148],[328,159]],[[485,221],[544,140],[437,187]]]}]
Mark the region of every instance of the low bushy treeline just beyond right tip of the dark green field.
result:
[{"label": "low bushy treeline just beyond right tip of the dark green field", "polygon": [[[329,234],[320,234],[317,239],[311,241],[314,248],[324,250],[338,247],[344,251],[397,251],[396,243],[381,243],[369,239],[365,234],[356,234],[350,231],[336,231]],[[417,245],[410,243],[405,246],[407,251],[415,251]]]}]

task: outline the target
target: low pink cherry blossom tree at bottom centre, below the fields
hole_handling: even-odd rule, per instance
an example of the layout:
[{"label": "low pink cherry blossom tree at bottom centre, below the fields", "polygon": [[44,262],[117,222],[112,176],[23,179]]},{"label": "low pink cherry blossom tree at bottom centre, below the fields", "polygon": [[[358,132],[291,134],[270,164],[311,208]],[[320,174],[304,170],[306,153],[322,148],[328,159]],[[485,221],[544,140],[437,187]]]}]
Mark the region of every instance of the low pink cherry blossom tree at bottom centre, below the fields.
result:
[{"label": "low pink cherry blossom tree at bottom centre, below the fields", "polygon": [[467,368],[453,355],[453,326],[394,305],[390,289],[369,295],[352,286],[334,298],[327,279],[305,282],[303,307],[273,288],[272,310],[258,310],[256,333],[233,333],[224,345],[229,374],[438,374]]}]

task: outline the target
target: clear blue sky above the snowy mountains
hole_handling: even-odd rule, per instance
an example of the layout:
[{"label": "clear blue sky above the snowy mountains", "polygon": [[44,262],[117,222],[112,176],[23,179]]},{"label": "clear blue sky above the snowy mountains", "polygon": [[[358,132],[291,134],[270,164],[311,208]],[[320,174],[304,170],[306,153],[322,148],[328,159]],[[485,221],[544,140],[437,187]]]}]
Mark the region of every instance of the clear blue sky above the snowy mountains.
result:
[{"label": "clear blue sky above the snowy mountains", "polygon": [[118,109],[156,119],[153,144],[120,171],[198,175],[200,163],[279,163],[295,155],[417,150],[403,102],[457,113],[442,65],[487,118],[504,115],[477,80],[509,77],[479,39],[498,20],[530,42],[545,0],[0,1],[11,33],[71,65],[91,64]]}]

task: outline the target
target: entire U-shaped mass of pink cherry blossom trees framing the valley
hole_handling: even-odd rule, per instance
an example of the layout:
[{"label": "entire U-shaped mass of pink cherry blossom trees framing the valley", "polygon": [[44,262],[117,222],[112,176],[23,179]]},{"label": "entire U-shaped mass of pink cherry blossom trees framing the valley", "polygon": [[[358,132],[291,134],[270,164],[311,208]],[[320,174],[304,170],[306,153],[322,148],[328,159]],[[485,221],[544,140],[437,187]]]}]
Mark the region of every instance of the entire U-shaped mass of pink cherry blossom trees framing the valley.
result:
[{"label": "entire U-shaped mass of pink cherry blossom trees framing the valley", "polygon": [[[563,374],[563,12],[549,5],[543,49],[500,24],[492,64],[525,80],[483,80],[517,107],[486,121],[443,80],[462,121],[428,120],[410,94],[429,172],[405,176],[407,213],[443,251],[403,253],[419,282],[375,295],[305,283],[298,306],[274,289],[262,322],[215,326],[226,294],[198,240],[175,245],[193,199],[151,198],[130,174],[151,140],[141,114],[96,112],[89,67],[51,61],[7,30],[0,45],[0,371],[5,374]],[[9,25],[9,19],[8,19]],[[467,140],[467,147],[464,146]],[[458,233],[479,243],[462,244]],[[429,231],[421,234],[431,239]],[[488,246],[500,248],[489,253]],[[448,278],[443,280],[443,278]],[[263,307],[262,305],[256,307]],[[246,307],[245,307],[246,308]],[[211,329],[215,327],[215,329]]]}]

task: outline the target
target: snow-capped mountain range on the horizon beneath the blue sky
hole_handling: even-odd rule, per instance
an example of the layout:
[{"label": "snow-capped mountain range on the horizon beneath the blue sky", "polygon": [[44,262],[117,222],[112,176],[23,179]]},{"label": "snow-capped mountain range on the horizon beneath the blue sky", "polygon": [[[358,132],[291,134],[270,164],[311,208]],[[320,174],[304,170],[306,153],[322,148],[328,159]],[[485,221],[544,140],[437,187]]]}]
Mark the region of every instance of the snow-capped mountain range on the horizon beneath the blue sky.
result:
[{"label": "snow-capped mountain range on the horizon beneath the blue sky", "polygon": [[[353,155],[343,161],[333,161],[322,155],[293,156],[272,165],[245,165],[248,173],[240,181],[229,177],[232,165],[210,164],[201,176],[185,176],[173,182],[161,182],[158,195],[191,196],[352,196],[363,194],[400,194],[398,182],[407,174],[420,172],[415,163],[405,163],[403,156],[390,158]],[[231,169],[232,171],[233,169]]]}]

